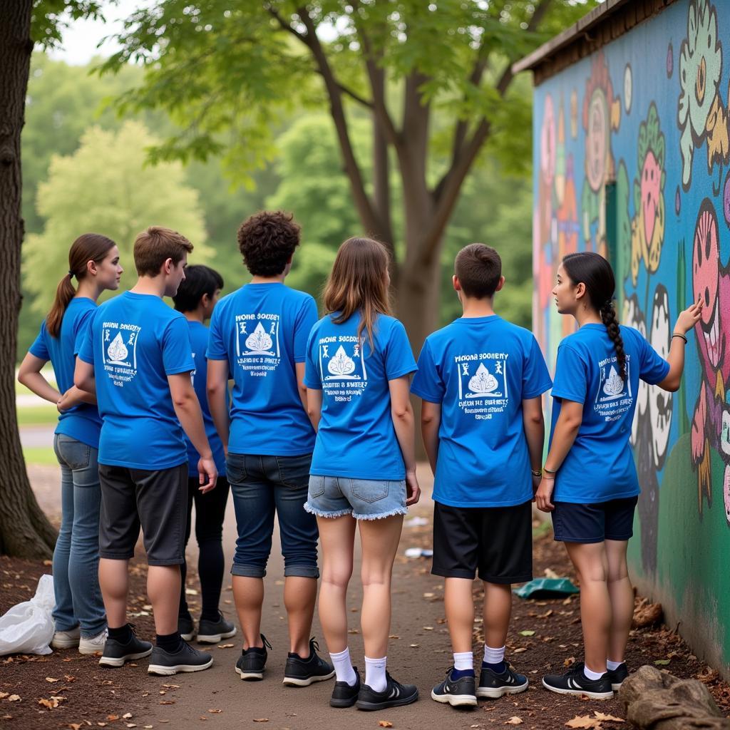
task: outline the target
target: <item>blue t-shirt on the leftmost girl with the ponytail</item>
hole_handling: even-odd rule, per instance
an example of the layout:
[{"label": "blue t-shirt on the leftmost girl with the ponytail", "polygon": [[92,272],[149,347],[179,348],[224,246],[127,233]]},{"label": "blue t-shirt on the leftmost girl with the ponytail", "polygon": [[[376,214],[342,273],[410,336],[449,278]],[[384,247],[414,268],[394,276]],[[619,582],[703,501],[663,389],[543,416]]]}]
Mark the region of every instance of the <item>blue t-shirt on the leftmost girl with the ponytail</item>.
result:
[{"label": "blue t-shirt on the leftmost girl with the ponytail", "polygon": [[[43,320],[41,331],[28,350],[41,360],[50,360],[55,382],[61,393],[65,393],[74,384],[76,356],[94,312],[96,304],[92,299],[85,296],[74,297],[64,313],[58,338],[50,336]],[[80,403],[61,413],[58,426],[55,427],[56,434],[70,436],[95,449],[99,448],[100,431],[99,409],[90,403]]]}]

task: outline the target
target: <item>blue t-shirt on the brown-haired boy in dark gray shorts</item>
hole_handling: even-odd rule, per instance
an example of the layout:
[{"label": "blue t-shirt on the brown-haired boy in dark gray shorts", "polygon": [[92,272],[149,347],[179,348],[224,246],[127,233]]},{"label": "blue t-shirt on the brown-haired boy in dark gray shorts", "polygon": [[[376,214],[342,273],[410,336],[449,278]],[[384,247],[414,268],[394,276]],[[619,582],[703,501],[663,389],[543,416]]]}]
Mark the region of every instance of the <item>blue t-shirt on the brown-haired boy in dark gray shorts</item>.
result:
[{"label": "blue t-shirt on the brown-haired boy in dark gray shorts", "polygon": [[79,357],[94,366],[101,464],[158,471],[188,461],[167,382],[195,369],[180,312],[158,296],[126,291],[96,310]]}]

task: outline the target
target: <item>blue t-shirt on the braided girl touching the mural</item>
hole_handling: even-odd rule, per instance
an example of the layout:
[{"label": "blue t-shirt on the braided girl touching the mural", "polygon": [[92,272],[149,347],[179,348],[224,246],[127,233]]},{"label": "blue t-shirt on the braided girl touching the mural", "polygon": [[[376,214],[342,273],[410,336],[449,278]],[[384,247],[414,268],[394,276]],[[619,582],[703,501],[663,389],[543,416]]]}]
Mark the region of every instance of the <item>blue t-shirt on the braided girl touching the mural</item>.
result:
[{"label": "blue t-shirt on the braided girl touching the mural", "polygon": [[584,324],[558,347],[550,443],[561,399],[583,404],[583,423],[556,474],[553,501],[590,504],[639,493],[629,445],[639,378],[661,383],[669,363],[634,328],[622,326],[621,339],[626,381],[618,374],[616,350],[602,324]]}]

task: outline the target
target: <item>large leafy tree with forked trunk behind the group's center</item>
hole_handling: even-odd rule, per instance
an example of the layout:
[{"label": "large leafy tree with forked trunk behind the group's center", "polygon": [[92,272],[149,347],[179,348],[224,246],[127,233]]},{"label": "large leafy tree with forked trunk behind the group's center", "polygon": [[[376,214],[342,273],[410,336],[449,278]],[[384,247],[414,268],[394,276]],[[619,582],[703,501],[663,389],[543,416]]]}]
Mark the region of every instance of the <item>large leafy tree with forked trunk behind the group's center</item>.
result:
[{"label": "large leafy tree with forked trunk behind the group's center", "polygon": [[[418,348],[436,323],[443,237],[467,174],[485,150],[512,167],[529,160],[529,93],[512,88],[512,61],[594,4],[162,0],[128,18],[102,69],[147,65],[123,108],[164,108],[183,127],[156,158],[224,153],[239,177],[271,155],[272,120],[295,103],[326,107],[361,227],[396,254],[399,316]],[[356,109],[370,123],[369,177]],[[444,164],[429,166],[434,150]]]}]

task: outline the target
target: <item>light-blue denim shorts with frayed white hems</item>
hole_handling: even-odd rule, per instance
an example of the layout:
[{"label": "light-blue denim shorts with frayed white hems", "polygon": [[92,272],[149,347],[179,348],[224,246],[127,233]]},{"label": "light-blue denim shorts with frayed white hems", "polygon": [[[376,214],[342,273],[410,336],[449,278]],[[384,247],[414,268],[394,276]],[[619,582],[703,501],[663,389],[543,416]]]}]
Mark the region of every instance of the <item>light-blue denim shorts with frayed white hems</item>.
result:
[{"label": "light-blue denim shorts with frayed white hems", "polygon": [[304,509],[318,517],[353,515],[356,520],[407,515],[406,483],[402,479],[350,479],[313,474]]}]

